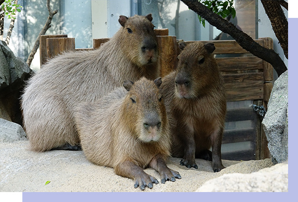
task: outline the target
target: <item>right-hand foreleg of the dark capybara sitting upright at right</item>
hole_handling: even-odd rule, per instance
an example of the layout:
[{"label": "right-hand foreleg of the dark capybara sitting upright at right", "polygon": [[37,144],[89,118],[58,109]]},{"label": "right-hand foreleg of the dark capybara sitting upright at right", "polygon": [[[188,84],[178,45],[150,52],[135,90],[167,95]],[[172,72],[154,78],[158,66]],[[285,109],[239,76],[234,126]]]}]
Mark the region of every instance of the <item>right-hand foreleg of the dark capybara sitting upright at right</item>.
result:
[{"label": "right-hand foreleg of the dark capybara sitting upright at right", "polygon": [[225,168],[222,164],[222,135],[222,128],[212,134],[212,168],[215,173]]}]

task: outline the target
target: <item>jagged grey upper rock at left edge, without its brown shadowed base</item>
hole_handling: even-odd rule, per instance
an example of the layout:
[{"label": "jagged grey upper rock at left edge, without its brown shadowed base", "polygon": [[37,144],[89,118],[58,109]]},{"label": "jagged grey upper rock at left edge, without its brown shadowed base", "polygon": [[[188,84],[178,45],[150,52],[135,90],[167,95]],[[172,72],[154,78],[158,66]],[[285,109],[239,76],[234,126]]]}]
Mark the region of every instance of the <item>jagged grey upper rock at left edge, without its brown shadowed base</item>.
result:
[{"label": "jagged grey upper rock at left edge, without its brown shadowed base", "polygon": [[32,70],[0,40],[0,97],[19,90]]}]

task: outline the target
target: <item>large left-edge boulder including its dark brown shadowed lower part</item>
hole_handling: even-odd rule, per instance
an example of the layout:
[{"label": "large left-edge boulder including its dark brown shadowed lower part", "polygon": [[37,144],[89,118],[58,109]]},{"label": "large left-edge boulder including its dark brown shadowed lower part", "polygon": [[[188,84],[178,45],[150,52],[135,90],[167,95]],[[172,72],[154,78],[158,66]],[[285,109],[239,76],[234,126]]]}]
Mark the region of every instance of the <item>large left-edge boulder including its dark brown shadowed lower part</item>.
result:
[{"label": "large left-edge boulder including its dark brown shadowed lower part", "polygon": [[20,92],[32,70],[0,40],[0,118],[21,124]]}]

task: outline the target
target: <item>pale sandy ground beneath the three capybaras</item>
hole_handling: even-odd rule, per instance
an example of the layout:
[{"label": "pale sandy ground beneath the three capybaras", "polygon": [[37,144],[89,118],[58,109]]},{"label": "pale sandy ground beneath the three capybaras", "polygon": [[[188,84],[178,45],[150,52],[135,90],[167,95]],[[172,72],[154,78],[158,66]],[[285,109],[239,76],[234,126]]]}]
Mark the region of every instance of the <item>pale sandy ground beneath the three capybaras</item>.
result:
[{"label": "pale sandy ground beneath the three capybaras", "polygon": [[[272,166],[270,159],[257,161],[223,160],[226,167],[214,173],[210,161],[197,159],[198,170],[179,165],[180,159],[169,158],[168,167],[182,177],[176,182],[160,183],[153,169],[145,172],[159,184],[145,192],[195,192],[206,181],[229,173],[248,174]],[[51,181],[45,185],[47,181]],[[134,188],[134,181],[117,176],[112,168],[90,163],[82,151],[55,150],[33,152],[28,141],[0,143],[1,192],[142,192]],[[144,191],[143,191],[144,192]]]}]

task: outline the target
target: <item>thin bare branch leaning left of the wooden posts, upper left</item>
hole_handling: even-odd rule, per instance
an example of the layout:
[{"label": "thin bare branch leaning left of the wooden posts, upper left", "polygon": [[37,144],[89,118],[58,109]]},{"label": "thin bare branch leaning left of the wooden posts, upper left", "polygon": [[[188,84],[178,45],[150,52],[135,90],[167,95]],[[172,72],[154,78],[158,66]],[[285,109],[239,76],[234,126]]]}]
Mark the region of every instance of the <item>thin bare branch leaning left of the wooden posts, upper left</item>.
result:
[{"label": "thin bare branch leaning left of the wooden posts, upper left", "polygon": [[47,8],[48,8],[48,11],[49,11],[49,16],[48,16],[48,19],[46,21],[45,26],[40,31],[40,33],[39,33],[39,35],[38,35],[38,37],[37,37],[37,39],[35,41],[35,44],[33,46],[33,49],[32,49],[32,51],[31,51],[31,53],[30,53],[30,55],[29,55],[29,57],[27,59],[27,64],[28,64],[29,67],[30,67],[31,62],[32,62],[32,60],[34,58],[34,55],[35,55],[35,53],[36,53],[36,51],[37,51],[37,49],[39,47],[39,38],[40,38],[40,36],[41,35],[44,35],[46,33],[46,31],[51,27],[50,24],[52,22],[53,16],[58,12],[58,10],[52,11],[51,6],[50,6],[50,0],[47,0]]}]

